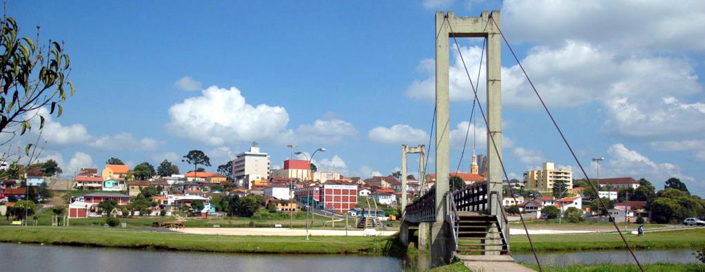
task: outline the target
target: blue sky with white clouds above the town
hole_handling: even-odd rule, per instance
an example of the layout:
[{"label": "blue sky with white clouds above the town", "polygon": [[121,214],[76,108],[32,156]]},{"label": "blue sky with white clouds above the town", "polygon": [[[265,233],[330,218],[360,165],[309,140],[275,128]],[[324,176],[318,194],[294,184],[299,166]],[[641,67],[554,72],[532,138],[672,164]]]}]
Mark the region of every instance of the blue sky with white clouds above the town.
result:
[{"label": "blue sky with white clouds above the town", "polygon": [[[48,118],[41,159],[66,175],[192,149],[216,167],[252,142],[287,144],[347,176],[400,168],[401,144],[429,142],[436,11],[501,11],[501,27],[591,178],[670,177],[705,195],[705,3],[701,1],[8,1],[20,35],[65,43],[76,94]],[[451,46],[453,43],[451,41]],[[482,39],[461,39],[473,80]],[[450,50],[451,169],[460,161],[472,89]],[[506,45],[503,161],[510,178],[544,161],[584,175]],[[479,94],[484,103],[484,75]],[[475,114],[479,114],[476,110]],[[475,131],[477,130],[477,131]],[[472,147],[486,153],[482,119]],[[32,137],[18,138],[18,143]],[[473,135],[476,135],[473,137]],[[37,137],[34,134],[34,137]],[[428,147],[427,147],[428,149]],[[434,170],[431,147],[430,172]],[[410,156],[410,173],[418,156]]]}]

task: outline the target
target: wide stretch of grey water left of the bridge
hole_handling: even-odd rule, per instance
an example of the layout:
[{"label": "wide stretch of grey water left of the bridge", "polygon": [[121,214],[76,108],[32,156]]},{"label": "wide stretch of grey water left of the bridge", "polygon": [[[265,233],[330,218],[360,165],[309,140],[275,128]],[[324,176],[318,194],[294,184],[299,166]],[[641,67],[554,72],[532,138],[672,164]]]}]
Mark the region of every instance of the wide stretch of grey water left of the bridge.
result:
[{"label": "wide stretch of grey water left of the bridge", "polygon": [[0,243],[0,271],[400,271],[400,259],[330,254],[216,254]]}]

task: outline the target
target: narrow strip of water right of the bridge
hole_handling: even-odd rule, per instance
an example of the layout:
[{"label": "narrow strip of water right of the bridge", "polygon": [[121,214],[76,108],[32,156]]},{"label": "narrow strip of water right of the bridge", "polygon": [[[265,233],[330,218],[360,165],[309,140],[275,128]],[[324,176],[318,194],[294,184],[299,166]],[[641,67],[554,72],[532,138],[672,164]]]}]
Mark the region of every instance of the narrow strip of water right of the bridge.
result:
[{"label": "narrow strip of water right of the bridge", "polygon": [[[694,249],[678,250],[638,250],[634,253],[642,264],[673,263],[699,264],[693,256]],[[534,254],[512,254],[516,261],[536,264]],[[566,266],[571,264],[635,264],[632,254],[623,250],[596,252],[556,252],[539,253],[541,264],[548,266]]]}]

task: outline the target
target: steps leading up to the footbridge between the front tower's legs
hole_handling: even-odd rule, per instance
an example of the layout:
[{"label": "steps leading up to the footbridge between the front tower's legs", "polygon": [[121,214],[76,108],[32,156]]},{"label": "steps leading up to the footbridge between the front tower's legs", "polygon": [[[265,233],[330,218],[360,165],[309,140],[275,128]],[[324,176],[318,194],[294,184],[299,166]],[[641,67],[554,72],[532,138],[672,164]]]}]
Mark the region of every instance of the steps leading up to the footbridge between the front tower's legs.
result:
[{"label": "steps leading up to the footbridge between the front tower's legs", "polygon": [[455,254],[462,256],[510,253],[497,216],[458,211],[458,218],[458,249]]}]

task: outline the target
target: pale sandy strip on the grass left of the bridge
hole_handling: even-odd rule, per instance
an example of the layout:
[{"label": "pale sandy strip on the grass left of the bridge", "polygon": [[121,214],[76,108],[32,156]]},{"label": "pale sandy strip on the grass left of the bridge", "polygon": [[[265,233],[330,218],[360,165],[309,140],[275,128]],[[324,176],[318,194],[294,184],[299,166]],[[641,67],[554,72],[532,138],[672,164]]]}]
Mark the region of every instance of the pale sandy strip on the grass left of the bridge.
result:
[{"label": "pale sandy strip on the grass left of the bridge", "polygon": [[[182,228],[174,230],[179,233],[212,235],[264,235],[264,236],[306,236],[306,229],[301,228]],[[378,236],[389,236],[396,231],[377,231]],[[345,230],[309,230],[312,236],[345,236]],[[362,230],[348,230],[348,236],[364,236]]]}]

